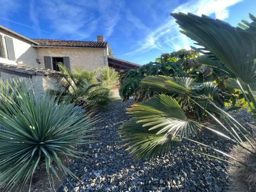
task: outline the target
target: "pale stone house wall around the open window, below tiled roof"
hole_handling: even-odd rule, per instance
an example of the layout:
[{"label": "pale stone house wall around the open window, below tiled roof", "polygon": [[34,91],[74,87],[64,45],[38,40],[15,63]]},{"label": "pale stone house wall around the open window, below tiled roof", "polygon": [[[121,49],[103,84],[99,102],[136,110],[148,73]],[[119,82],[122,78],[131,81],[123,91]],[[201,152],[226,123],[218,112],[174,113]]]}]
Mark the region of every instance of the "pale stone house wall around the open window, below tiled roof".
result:
[{"label": "pale stone house wall around the open window, below tiled roof", "polygon": [[44,56],[69,57],[72,71],[74,71],[75,67],[92,71],[96,68],[108,66],[107,51],[107,48],[37,48],[41,68],[45,68]]}]

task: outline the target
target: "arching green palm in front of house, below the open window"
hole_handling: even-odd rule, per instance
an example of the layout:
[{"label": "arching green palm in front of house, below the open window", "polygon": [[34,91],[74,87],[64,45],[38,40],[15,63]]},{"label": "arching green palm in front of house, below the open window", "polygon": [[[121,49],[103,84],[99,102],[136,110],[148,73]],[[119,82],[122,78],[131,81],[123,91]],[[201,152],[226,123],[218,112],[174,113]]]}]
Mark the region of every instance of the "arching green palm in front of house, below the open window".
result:
[{"label": "arching green palm in front of house, below the open window", "polygon": [[[59,92],[62,95],[60,99],[68,99],[70,102],[75,102],[87,108],[108,108],[112,101],[112,93],[110,89],[102,86],[103,77],[101,76],[102,83],[93,83],[98,70],[88,72],[82,69],[80,71],[75,70],[73,73],[65,66],[60,66],[60,70],[63,74],[62,84],[64,84],[64,90]],[[104,72],[101,74],[104,74]],[[106,80],[104,83],[109,82],[111,81]]]}]

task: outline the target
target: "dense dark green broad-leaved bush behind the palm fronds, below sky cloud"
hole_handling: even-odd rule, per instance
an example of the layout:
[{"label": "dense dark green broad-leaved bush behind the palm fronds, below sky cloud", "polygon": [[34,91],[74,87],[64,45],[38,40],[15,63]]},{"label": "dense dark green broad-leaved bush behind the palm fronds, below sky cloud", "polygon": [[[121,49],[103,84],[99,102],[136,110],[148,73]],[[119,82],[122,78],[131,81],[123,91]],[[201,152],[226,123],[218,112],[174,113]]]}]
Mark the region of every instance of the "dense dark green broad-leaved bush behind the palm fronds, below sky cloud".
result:
[{"label": "dense dark green broad-leaved bush behind the palm fronds, below sky cloud", "polygon": [[196,65],[198,55],[193,50],[181,49],[177,52],[162,54],[155,62],[150,62],[137,70],[127,72],[120,80],[120,96],[124,100],[133,96],[137,101],[153,96],[153,93],[138,89],[140,80],[150,75],[191,76],[197,81],[203,82],[208,75],[206,75],[204,69],[200,69]]}]

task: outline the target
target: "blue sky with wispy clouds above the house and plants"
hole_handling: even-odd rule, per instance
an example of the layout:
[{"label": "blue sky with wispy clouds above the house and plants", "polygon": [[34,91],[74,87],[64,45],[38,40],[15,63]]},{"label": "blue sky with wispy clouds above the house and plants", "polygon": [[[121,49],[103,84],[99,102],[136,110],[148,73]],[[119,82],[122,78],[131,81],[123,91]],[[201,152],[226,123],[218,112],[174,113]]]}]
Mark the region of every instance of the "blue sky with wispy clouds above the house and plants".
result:
[{"label": "blue sky with wispy clouds above the house and plants", "polygon": [[0,25],[30,38],[96,40],[114,56],[141,65],[161,53],[189,49],[171,12],[206,14],[237,26],[256,0],[0,0]]}]

